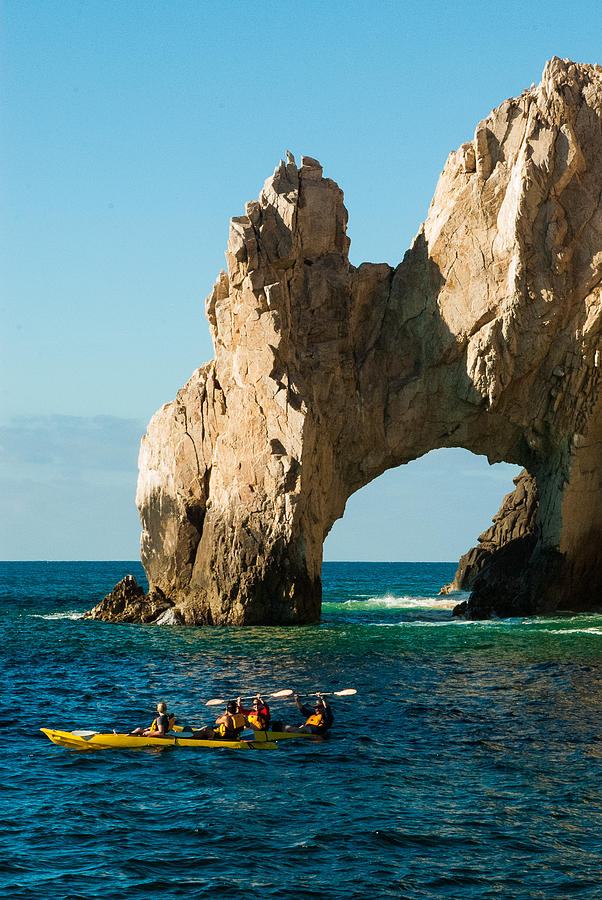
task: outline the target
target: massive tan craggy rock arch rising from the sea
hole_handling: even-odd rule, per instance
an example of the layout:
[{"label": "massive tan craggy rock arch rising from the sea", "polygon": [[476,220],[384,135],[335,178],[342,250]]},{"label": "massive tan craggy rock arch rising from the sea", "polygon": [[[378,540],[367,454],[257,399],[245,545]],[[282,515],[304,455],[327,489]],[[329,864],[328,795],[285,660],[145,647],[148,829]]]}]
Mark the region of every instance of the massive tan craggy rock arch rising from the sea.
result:
[{"label": "massive tan craggy rock arch rising from the sea", "polygon": [[287,155],[232,219],[215,358],[142,441],[149,604],[161,592],[190,624],[315,621],[347,499],[439,447],[528,473],[462,563],[467,614],[597,601],[601,116],[600,67],[553,59],[450,154],[397,268],[349,263],[342,192]]}]

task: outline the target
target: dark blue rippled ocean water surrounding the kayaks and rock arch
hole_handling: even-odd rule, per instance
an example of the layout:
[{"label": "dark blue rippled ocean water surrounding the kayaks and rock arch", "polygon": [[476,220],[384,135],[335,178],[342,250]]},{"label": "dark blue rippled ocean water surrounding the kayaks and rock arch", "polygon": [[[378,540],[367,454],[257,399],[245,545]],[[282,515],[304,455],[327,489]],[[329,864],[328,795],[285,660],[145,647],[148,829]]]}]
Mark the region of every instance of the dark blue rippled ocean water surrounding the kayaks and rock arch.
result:
[{"label": "dark blue rippled ocean water surrounding the kayaks and rock arch", "polygon": [[[454,568],[327,563],[320,625],[186,629],[81,618],[138,563],[1,563],[2,895],[602,897],[602,617],[456,621]],[[329,739],[271,752],[39,731],[349,687]]]}]

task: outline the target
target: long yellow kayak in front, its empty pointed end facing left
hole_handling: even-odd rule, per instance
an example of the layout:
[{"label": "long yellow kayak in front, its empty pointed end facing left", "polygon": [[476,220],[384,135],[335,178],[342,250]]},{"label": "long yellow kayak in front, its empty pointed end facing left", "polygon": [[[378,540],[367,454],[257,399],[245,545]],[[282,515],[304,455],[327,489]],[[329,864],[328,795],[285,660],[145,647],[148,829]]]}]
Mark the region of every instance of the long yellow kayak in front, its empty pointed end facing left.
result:
[{"label": "long yellow kayak in front, its empty pointed end facing left", "polygon": [[193,737],[145,737],[137,734],[101,734],[97,731],[57,731],[54,728],[40,728],[40,731],[59,747],[69,750],[141,750],[145,747],[193,747],[195,749],[219,750],[275,750],[277,744],[266,738],[250,741],[206,741]]}]

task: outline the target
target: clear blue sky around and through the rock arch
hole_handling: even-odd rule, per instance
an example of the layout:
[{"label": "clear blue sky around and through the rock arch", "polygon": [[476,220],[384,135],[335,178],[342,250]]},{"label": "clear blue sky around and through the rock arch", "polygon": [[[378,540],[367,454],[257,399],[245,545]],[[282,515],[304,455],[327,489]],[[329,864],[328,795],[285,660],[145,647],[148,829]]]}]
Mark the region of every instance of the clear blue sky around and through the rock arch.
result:
[{"label": "clear blue sky around and through the rock arch", "polygon": [[[228,221],[286,149],[345,192],[351,261],[398,263],[450,150],[546,59],[600,61],[576,2],[0,5],[0,556],[132,559],[138,442],[213,349]],[[429,454],[353,497],[328,559],[455,559],[515,467]]]}]

